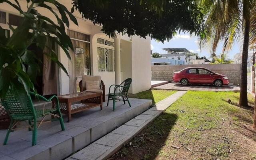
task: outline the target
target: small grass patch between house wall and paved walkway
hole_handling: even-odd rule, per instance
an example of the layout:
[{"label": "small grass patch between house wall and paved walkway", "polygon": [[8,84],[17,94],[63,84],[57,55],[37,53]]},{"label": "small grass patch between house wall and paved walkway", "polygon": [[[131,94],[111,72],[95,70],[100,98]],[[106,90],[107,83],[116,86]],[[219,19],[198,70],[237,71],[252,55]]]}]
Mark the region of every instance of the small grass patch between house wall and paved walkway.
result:
[{"label": "small grass patch between house wall and paved walkway", "polygon": [[129,94],[129,98],[139,98],[152,100],[152,104],[156,104],[168,96],[177,92],[176,90],[146,90],[137,94]]}]

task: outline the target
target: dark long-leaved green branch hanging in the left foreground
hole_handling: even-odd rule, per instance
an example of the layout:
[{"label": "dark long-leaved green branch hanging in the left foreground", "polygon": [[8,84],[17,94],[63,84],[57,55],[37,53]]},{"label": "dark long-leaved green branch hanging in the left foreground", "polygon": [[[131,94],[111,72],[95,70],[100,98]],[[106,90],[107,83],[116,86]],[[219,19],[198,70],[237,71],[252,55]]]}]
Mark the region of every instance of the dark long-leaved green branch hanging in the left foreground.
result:
[{"label": "dark long-leaved green branch hanging in the left foreground", "polygon": [[[56,0],[26,0],[27,9],[23,11],[18,0],[15,3],[9,0],[6,2],[20,12],[22,22],[16,28],[10,24],[13,34],[6,37],[5,30],[0,27],[0,98],[4,97],[7,90],[11,90],[14,96],[20,101],[22,106],[26,106],[26,94],[30,90],[36,93],[36,75],[40,72],[38,58],[29,49],[31,44],[36,44],[38,48],[44,50],[47,42],[55,42],[70,58],[69,49],[74,50],[69,36],[65,32],[65,25],[69,27],[69,20],[78,25],[76,18],[68,9]],[[49,5],[54,5],[58,9],[58,14]],[[56,22],[43,16],[37,8],[49,10],[56,18]],[[57,53],[48,48],[44,54],[53,62],[56,62],[62,70],[68,74],[63,64],[59,62]]]}]

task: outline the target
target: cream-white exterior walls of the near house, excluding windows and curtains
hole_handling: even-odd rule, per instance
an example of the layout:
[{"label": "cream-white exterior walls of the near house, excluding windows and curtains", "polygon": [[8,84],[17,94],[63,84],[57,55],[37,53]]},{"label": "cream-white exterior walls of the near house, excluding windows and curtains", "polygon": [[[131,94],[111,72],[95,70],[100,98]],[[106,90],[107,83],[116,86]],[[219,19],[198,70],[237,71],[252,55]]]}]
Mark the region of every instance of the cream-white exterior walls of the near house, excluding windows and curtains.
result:
[{"label": "cream-white exterior walls of the near house, excluding windows and curtains", "polygon": [[[14,2],[14,0],[10,0]],[[61,4],[65,5],[68,10],[72,8],[72,0],[58,0]],[[20,5],[24,10],[26,10],[26,0],[20,0]],[[14,2],[15,3],[15,2]],[[53,6],[52,6],[53,7]],[[52,21],[56,22],[55,16],[45,8],[37,8],[40,14],[50,18]],[[56,10],[56,8],[53,8]],[[7,3],[0,4],[0,10],[6,13],[20,15],[17,10],[15,10],[12,6]],[[58,14],[58,11],[56,10]],[[97,59],[97,43],[96,40],[98,37],[109,39],[102,31],[100,31],[100,26],[94,26],[92,22],[88,20],[83,20],[82,16],[79,12],[75,11],[73,13],[76,16],[78,21],[78,26],[74,24],[70,20],[69,30],[74,30],[76,32],[84,33],[90,35],[90,56],[91,56],[91,74],[101,76],[102,80],[105,84],[106,94],[108,94],[108,88],[110,85],[115,84],[115,72],[98,72],[98,59]],[[8,17],[6,19],[8,22]],[[7,24],[0,24],[2,28],[9,29]],[[12,32],[10,31],[10,34]],[[126,40],[130,43],[130,45],[124,45],[124,49],[122,50],[122,41],[120,44],[121,56],[123,55],[123,60],[121,60],[121,68],[123,68],[123,72],[121,69],[121,78],[122,80],[126,78],[132,78],[132,88],[136,88],[136,90],[131,89],[130,92],[137,93],[140,91],[148,90],[151,86],[150,84],[150,38],[146,39],[140,38],[138,36],[132,36],[132,38],[128,36],[117,35],[117,38]],[[131,41],[132,40],[132,41]],[[113,39],[111,40],[113,41]],[[130,50],[126,50],[127,47],[130,47]],[[64,67],[68,70],[68,58],[64,51],[59,47],[58,48],[58,56],[59,61],[64,65]],[[124,54],[127,54],[124,56]],[[130,58],[128,58],[130,55]],[[122,58],[122,57],[121,57]],[[124,69],[125,68],[125,69]],[[141,73],[140,73],[141,72]],[[69,94],[69,77],[59,69],[59,82],[60,82],[60,95]]]}]

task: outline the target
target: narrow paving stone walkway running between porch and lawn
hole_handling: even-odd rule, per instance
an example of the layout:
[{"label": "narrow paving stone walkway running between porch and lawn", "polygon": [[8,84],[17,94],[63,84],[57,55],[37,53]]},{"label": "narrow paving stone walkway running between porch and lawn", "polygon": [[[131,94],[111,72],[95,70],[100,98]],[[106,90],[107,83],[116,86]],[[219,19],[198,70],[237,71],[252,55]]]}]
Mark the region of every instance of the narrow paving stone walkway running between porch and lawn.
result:
[{"label": "narrow paving stone walkway running between porch and lawn", "polygon": [[185,93],[186,91],[178,91],[172,94],[66,160],[106,160]]}]

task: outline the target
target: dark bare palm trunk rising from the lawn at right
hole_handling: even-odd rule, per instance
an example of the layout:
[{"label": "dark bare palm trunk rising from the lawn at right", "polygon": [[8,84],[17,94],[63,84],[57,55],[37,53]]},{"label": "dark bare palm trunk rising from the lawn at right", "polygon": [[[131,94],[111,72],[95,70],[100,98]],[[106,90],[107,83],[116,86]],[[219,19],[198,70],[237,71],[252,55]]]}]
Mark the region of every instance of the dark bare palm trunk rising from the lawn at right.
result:
[{"label": "dark bare palm trunk rising from the lawn at right", "polygon": [[250,32],[250,18],[244,20],[244,44],[242,53],[242,66],[241,66],[241,80],[240,80],[240,99],[239,105],[248,106],[247,100],[247,59],[249,48],[249,32]]}]

